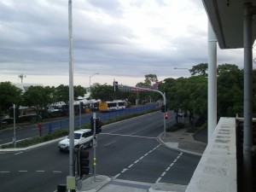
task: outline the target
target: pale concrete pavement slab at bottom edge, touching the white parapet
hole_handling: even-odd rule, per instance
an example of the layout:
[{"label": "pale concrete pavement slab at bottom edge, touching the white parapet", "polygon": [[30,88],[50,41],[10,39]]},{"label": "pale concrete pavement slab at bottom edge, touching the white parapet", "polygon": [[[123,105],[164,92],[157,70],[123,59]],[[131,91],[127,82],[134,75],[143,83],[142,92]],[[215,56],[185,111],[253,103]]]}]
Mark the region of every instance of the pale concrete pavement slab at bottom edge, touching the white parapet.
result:
[{"label": "pale concrete pavement slab at bottom edge, touching the white parapet", "polygon": [[185,192],[187,185],[172,183],[154,183],[148,192]]}]

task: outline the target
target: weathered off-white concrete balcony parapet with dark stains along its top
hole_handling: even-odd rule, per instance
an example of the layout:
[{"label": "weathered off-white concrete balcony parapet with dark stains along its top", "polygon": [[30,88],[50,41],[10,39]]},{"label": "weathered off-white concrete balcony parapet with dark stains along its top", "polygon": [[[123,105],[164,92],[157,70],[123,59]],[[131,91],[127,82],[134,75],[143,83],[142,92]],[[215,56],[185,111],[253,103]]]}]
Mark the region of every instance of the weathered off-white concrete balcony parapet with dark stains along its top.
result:
[{"label": "weathered off-white concrete balcony parapet with dark stains along its top", "polygon": [[221,118],[186,192],[236,192],[236,119]]}]

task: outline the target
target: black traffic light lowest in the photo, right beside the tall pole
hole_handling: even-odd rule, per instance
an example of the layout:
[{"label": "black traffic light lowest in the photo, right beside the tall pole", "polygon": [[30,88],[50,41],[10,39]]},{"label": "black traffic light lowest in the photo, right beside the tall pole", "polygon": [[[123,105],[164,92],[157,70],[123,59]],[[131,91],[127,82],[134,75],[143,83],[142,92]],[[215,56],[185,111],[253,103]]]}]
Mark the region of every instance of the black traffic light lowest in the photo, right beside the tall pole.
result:
[{"label": "black traffic light lowest in the photo, right beside the tall pole", "polygon": [[79,176],[80,179],[84,175],[89,175],[90,172],[90,160],[89,160],[89,151],[86,151],[84,148],[79,150]]}]

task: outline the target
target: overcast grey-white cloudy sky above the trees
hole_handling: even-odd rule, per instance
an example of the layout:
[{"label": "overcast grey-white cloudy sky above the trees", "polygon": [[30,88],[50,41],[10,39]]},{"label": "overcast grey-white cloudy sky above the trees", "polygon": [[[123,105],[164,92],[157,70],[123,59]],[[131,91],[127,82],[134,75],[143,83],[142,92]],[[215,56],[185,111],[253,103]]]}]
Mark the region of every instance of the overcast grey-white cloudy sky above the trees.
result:
[{"label": "overcast grey-white cloudy sky above the trees", "polygon": [[[0,2],[0,81],[69,83],[68,0]],[[207,62],[201,0],[73,0],[74,84],[135,85],[189,77]],[[218,64],[242,67],[243,49],[218,49]]]}]

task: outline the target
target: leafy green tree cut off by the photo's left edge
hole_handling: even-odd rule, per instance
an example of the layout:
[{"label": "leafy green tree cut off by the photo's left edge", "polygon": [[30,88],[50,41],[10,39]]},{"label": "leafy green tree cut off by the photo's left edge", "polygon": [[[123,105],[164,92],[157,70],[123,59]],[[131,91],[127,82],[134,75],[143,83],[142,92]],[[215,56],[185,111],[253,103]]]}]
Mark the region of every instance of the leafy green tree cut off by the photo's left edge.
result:
[{"label": "leafy green tree cut off by the photo's left edge", "polygon": [[0,113],[6,112],[13,104],[20,105],[22,90],[10,82],[0,83]]}]

